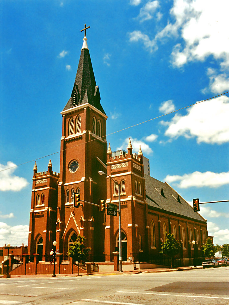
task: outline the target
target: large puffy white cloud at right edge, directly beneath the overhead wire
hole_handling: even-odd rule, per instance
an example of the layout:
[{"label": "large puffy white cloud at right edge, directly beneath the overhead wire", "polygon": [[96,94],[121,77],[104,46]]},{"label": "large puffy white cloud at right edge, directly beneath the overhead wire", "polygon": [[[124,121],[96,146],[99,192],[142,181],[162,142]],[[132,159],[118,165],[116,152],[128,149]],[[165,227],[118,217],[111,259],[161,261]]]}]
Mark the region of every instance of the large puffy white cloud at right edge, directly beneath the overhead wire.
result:
[{"label": "large puffy white cloud at right edge, directly beneath the overhead wire", "polygon": [[187,114],[176,114],[170,122],[161,121],[168,126],[165,135],[170,138],[197,137],[197,142],[222,144],[229,141],[229,97],[199,103],[187,109]]}]

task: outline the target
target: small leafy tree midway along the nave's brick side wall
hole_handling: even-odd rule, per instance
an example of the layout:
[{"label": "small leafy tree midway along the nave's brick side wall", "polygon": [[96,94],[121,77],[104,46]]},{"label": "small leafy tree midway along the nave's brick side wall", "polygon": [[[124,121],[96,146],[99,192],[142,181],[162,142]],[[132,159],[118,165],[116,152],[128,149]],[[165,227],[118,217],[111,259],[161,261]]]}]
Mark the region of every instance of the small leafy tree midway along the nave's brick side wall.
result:
[{"label": "small leafy tree midway along the nave's brick side wall", "polygon": [[171,269],[173,267],[172,258],[180,252],[180,242],[174,238],[173,234],[165,232],[166,240],[161,245],[161,252],[170,257]]}]

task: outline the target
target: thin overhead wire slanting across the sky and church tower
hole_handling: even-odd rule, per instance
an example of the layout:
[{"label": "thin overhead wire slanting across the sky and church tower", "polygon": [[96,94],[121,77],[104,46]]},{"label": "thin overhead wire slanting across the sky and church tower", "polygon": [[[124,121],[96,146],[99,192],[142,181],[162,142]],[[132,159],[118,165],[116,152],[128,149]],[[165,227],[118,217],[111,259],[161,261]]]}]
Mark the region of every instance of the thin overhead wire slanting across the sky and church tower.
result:
[{"label": "thin overhead wire slanting across the sky and church tower", "polygon": [[[154,118],[149,119],[149,120],[146,120],[146,121],[144,121],[144,122],[141,122],[141,123],[138,123],[138,124],[129,126],[129,127],[125,127],[125,128],[120,129],[120,130],[118,130],[118,131],[111,132],[111,133],[109,133],[109,134],[107,134],[107,135],[104,135],[104,136],[102,136],[102,137],[95,138],[95,139],[93,139],[93,140],[87,141],[86,143],[93,142],[93,141],[95,141],[95,140],[97,140],[97,139],[101,139],[101,138],[107,137],[107,136],[109,136],[109,135],[114,135],[115,133],[118,133],[118,132],[120,132],[120,131],[123,131],[123,130],[129,129],[129,128],[132,128],[132,127],[135,127],[135,126],[138,126],[138,125],[141,125],[141,124],[150,122],[150,121],[152,121],[152,120],[159,119],[160,117],[165,117],[165,116],[168,115],[168,114],[171,114],[171,113],[174,113],[174,112],[177,112],[177,111],[180,111],[180,110],[189,108],[189,107],[191,107],[191,106],[197,105],[197,104],[202,103],[202,102],[209,101],[210,99],[215,99],[216,97],[219,97],[220,95],[224,95],[224,94],[226,94],[226,93],[229,93],[229,91],[224,92],[224,93],[221,93],[221,94],[216,95],[216,96],[213,96],[213,97],[210,97],[209,99],[204,99],[204,100],[202,100],[202,101],[200,101],[200,102],[196,102],[196,103],[194,103],[194,104],[191,104],[191,105],[182,107],[182,108],[180,108],[180,109],[177,109],[177,110],[174,110],[174,111],[171,111],[171,112],[162,114],[162,115],[160,115],[160,116],[158,116],[158,117],[154,117]],[[30,162],[34,162],[34,161],[37,161],[37,160],[40,160],[40,159],[43,159],[43,158],[46,158],[46,157],[49,157],[49,156],[53,156],[53,155],[55,155],[55,154],[57,154],[57,153],[63,152],[63,151],[65,151],[65,150],[67,150],[67,149],[75,148],[75,147],[80,146],[80,145],[82,145],[82,143],[81,143],[81,144],[78,144],[78,145],[75,145],[75,146],[72,146],[72,147],[69,147],[69,148],[66,148],[66,149],[63,149],[63,150],[60,150],[60,151],[58,151],[58,152],[53,152],[53,153],[51,153],[51,154],[49,154],[49,155],[46,155],[46,156],[43,156],[43,157],[40,157],[40,158],[37,158],[37,159],[34,159],[34,160],[30,160],[30,161],[27,161],[27,162],[24,162],[24,163],[20,163],[20,164],[18,164],[18,165],[12,166],[12,167],[5,168],[5,169],[3,169],[3,170],[0,170],[0,172],[2,172],[2,171],[4,171],[4,170],[9,170],[9,169],[11,169],[11,168],[15,168],[15,167],[18,167],[18,166],[21,166],[21,165],[24,165],[24,164],[27,164],[27,163],[30,163]]]}]

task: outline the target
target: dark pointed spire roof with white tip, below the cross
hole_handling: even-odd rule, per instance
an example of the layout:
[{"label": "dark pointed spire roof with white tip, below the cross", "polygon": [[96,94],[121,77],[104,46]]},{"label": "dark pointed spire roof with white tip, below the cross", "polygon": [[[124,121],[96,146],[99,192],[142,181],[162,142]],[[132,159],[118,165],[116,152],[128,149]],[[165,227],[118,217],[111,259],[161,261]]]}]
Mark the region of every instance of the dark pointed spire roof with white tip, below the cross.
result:
[{"label": "dark pointed spire roof with white tip, below the cross", "polygon": [[72,89],[71,97],[63,111],[70,109],[71,107],[89,103],[106,114],[100,104],[100,99],[99,86],[96,86],[87,42],[84,41],[75,77],[75,84]]}]

